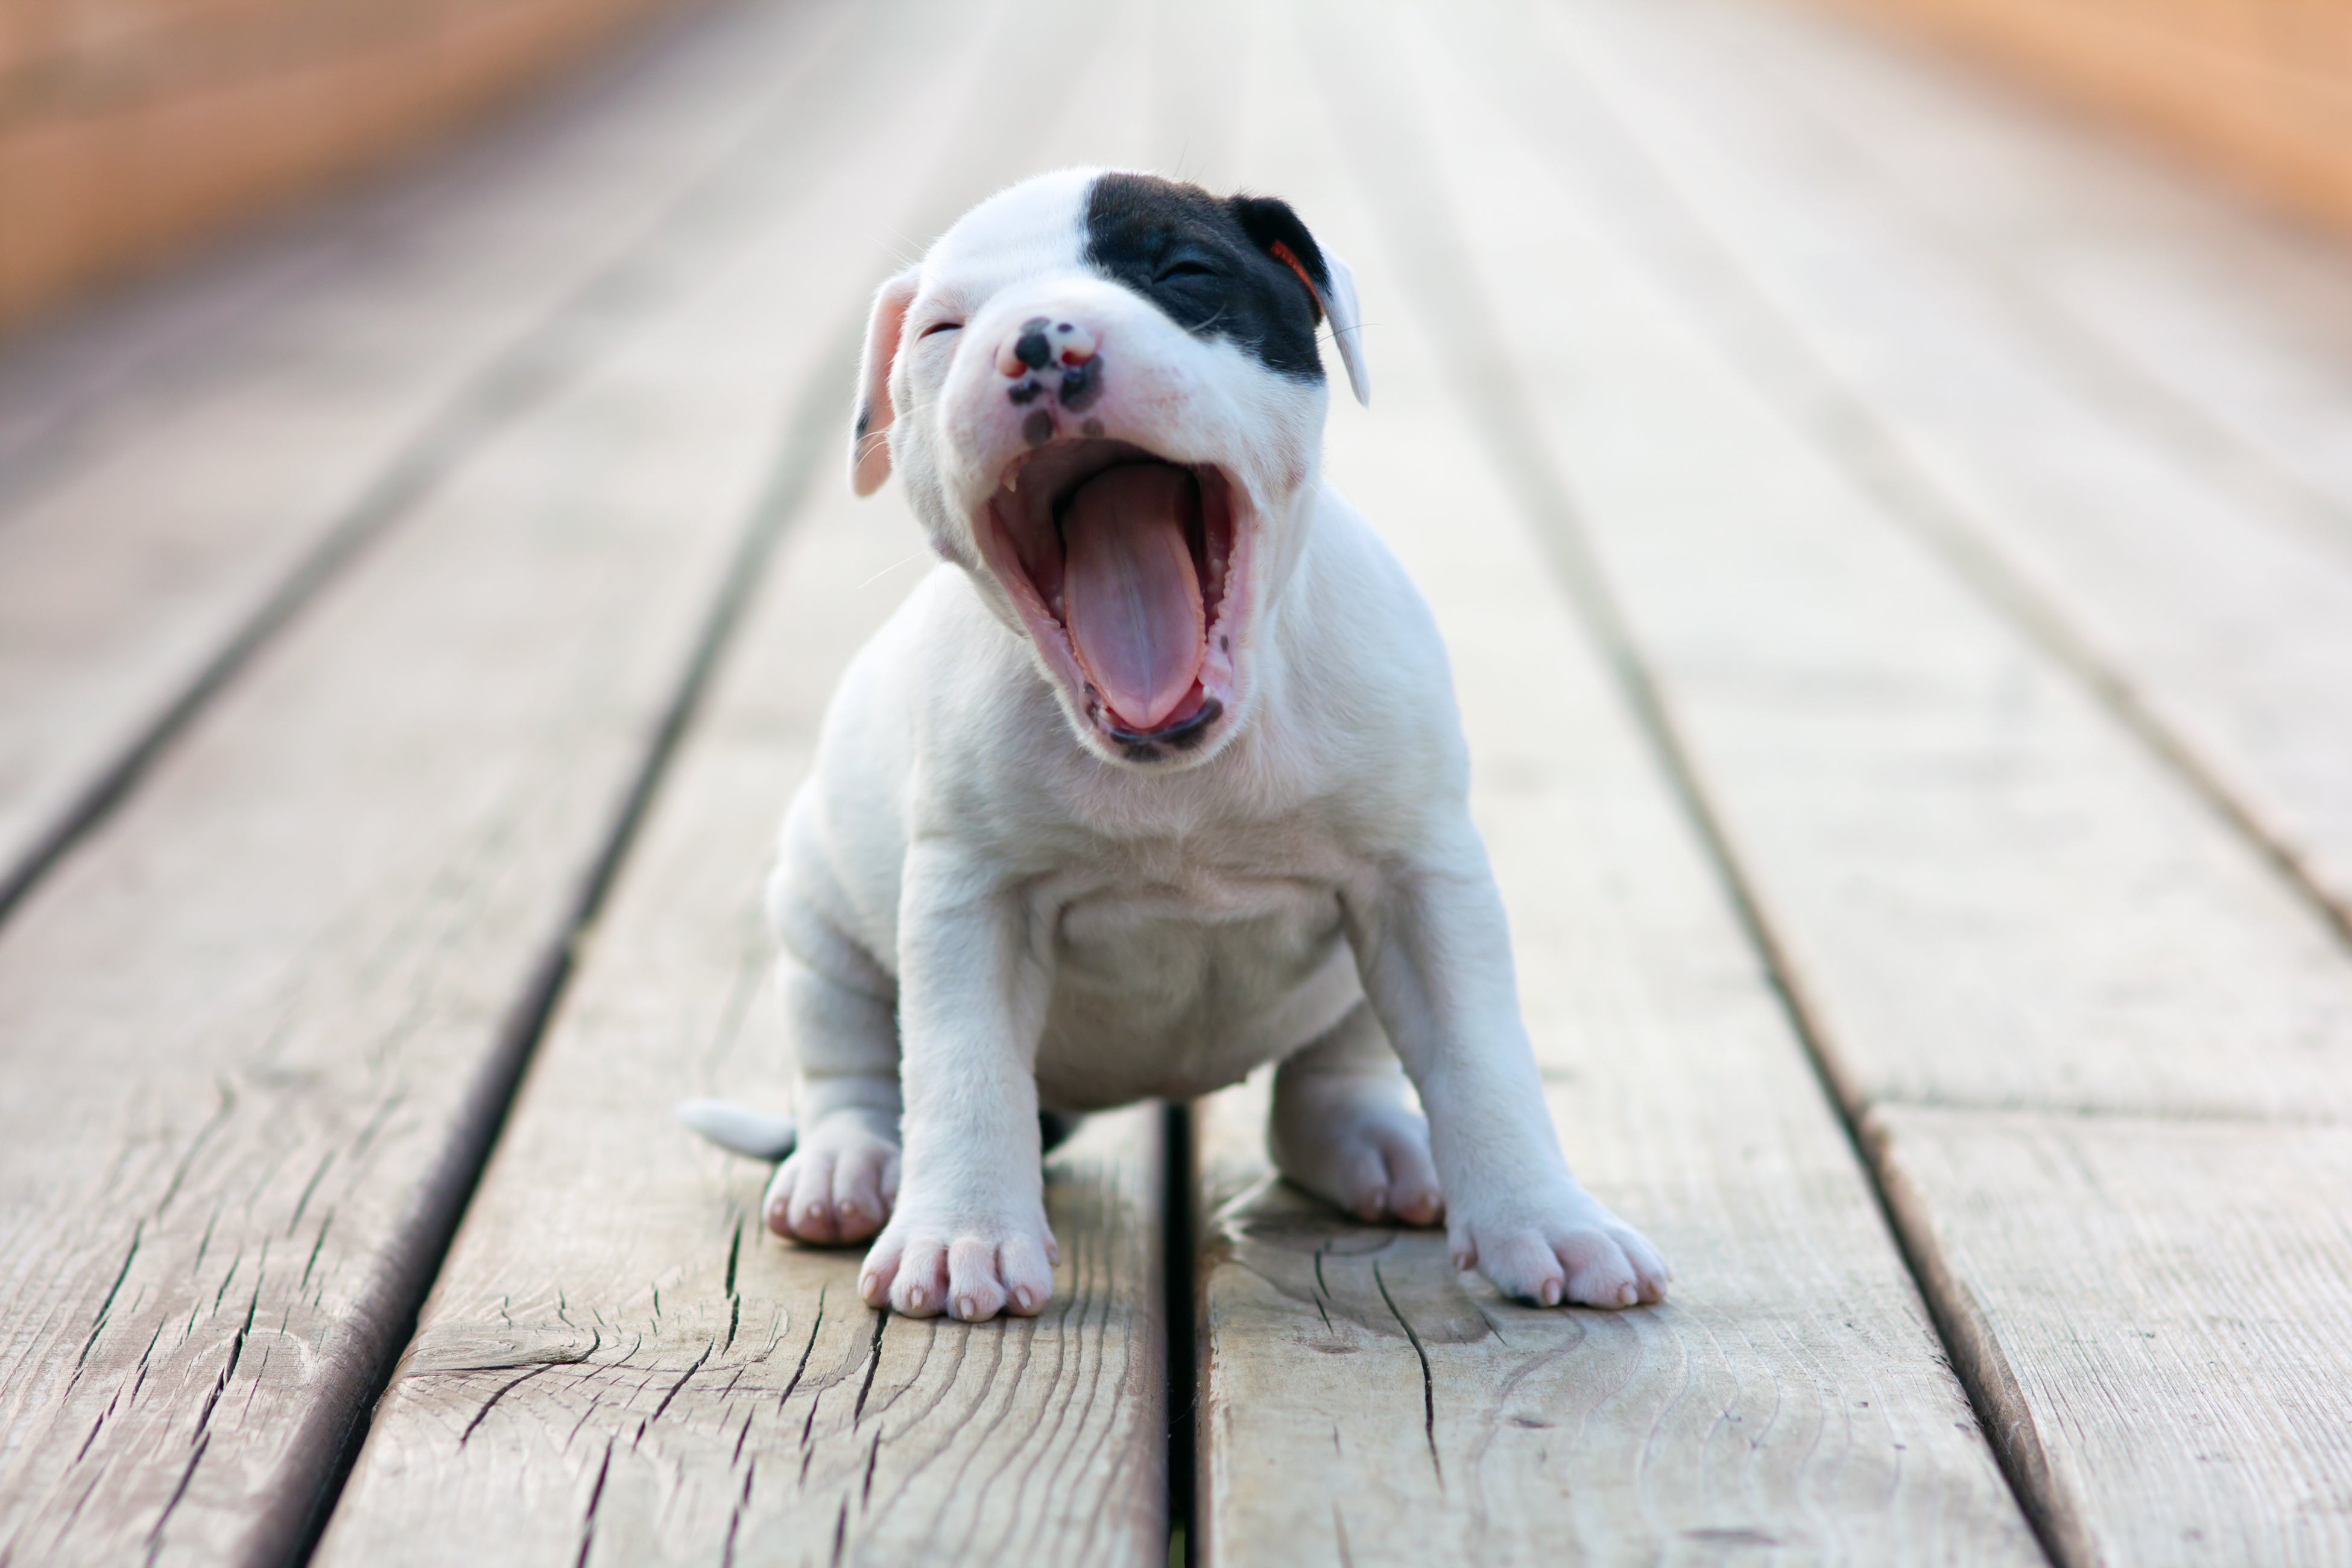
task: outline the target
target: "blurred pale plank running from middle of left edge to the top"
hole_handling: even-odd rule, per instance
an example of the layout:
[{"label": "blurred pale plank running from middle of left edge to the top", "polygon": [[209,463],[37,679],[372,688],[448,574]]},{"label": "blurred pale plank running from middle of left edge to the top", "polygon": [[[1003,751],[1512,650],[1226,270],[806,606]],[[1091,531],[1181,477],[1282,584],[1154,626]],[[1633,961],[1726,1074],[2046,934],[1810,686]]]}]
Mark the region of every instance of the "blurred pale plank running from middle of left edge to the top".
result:
[{"label": "blurred pale plank running from middle of left edge to the top", "polygon": [[5,496],[0,907],[252,639],[750,237],[713,188],[804,179],[790,150],[835,103],[746,61],[807,56],[830,26],[743,9],[612,127],[350,214],[365,261],[214,341],[195,386],[155,376],[155,409],[87,433],[103,454]]}]

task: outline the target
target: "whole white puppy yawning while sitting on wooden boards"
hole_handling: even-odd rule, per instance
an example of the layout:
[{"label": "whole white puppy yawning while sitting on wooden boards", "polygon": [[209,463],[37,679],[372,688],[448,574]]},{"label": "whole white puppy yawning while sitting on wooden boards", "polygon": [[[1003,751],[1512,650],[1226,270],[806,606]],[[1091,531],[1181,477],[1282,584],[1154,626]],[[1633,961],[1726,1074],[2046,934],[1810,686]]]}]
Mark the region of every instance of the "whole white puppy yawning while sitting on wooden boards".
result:
[{"label": "whole white puppy yawning while sitting on wooden boards", "polygon": [[1444,1215],[1512,1295],[1665,1291],[1559,1157],[1437,628],[1322,484],[1319,320],[1364,400],[1355,284],[1287,205],[1084,169],[875,299],[851,480],[896,470],[946,564],[783,827],[800,1140],[767,1222],[880,1229],[877,1307],[1037,1312],[1040,1112],[1261,1063],[1308,1192]]}]

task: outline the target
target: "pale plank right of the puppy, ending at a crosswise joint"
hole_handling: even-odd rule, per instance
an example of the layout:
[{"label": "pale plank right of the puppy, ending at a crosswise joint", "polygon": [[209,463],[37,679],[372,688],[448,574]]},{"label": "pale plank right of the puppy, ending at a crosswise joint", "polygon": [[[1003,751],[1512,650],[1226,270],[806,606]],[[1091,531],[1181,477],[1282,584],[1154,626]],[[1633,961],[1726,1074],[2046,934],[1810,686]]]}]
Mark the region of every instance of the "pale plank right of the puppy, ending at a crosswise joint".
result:
[{"label": "pale plank right of the puppy, ending at a crosswise joint", "polygon": [[[1625,233],[1621,172],[1578,158],[1604,125],[1571,61],[1519,59],[1562,113],[1463,115],[1545,193],[1482,216],[1479,275],[1503,289],[1508,254],[1576,277],[1515,299],[1512,369],[1851,1103],[2352,1107],[2336,933],[1724,362]],[[1526,103],[1503,71],[1496,101]],[[1508,190],[1461,179],[1465,207]]]}]

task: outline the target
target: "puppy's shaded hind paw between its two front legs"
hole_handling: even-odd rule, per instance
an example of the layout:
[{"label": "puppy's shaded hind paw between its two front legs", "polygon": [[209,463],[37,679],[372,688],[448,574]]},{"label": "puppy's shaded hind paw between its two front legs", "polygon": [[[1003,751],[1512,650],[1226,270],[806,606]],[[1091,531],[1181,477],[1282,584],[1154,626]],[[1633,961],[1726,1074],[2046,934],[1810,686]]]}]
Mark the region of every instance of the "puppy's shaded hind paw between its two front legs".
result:
[{"label": "puppy's shaded hind paw between its two front legs", "polygon": [[1430,1124],[1390,1074],[1312,1072],[1275,1086],[1275,1168],[1357,1220],[1435,1225],[1444,1211]]}]

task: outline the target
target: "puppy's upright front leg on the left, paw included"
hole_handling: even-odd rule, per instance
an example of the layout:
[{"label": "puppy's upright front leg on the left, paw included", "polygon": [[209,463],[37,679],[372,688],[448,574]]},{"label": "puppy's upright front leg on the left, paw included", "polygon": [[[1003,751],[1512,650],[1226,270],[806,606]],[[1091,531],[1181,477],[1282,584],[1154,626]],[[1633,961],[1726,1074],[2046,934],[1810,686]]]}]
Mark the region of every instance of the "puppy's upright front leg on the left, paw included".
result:
[{"label": "puppy's upright front leg on the left, paw included", "polygon": [[1051,922],[997,867],[917,839],[898,903],[906,1154],[898,1206],[866,1255],[875,1307],[1023,1316],[1054,1293],[1044,1222],[1037,1037],[1054,987]]}]

